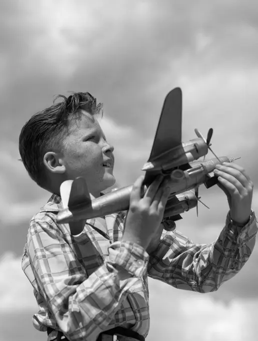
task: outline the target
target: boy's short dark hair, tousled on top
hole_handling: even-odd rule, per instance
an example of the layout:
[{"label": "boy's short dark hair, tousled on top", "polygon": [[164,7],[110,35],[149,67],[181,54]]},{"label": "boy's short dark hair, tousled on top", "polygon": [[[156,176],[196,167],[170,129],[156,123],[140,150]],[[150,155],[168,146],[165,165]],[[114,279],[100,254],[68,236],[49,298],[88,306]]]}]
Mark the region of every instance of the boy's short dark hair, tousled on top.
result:
[{"label": "boy's short dark hair, tousled on top", "polygon": [[[55,103],[58,98],[64,100]],[[89,92],[73,92],[68,98],[57,95],[54,104],[34,114],[22,128],[19,137],[21,161],[32,180],[46,189],[46,172],[43,157],[48,151],[62,150],[62,139],[68,132],[68,117],[85,110],[91,115],[102,111],[103,104],[97,105],[96,98]]]}]

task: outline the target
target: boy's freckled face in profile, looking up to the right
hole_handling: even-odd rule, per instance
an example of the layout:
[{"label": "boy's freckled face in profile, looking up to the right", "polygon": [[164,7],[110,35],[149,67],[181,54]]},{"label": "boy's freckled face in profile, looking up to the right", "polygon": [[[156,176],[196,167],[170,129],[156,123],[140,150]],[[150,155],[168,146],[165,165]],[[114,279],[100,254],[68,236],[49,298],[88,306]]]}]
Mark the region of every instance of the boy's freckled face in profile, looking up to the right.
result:
[{"label": "boy's freckled face in profile, looking up to the right", "polygon": [[83,177],[89,192],[98,197],[115,184],[113,150],[95,117],[83,111],[80,119],[70,120],[69,135],[63,142],[67,178]]}]

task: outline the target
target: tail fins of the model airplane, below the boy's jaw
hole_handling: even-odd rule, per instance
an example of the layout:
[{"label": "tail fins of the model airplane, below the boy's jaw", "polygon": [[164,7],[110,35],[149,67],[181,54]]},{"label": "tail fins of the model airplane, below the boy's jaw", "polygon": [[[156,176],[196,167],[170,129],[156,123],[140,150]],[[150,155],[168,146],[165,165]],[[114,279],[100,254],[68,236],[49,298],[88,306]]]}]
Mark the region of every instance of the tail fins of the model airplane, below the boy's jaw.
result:
[{"label": "tail fins of the model airplane, below the boy's jaw", "polygon": [[[80,203],[91,203],[90,193],[84,178],[64,181],[60,186],[60,195],[64,209],[71,211]],[[70,222],[69,227],[72,235],[80,234],[84,229],[85,221]]]}]

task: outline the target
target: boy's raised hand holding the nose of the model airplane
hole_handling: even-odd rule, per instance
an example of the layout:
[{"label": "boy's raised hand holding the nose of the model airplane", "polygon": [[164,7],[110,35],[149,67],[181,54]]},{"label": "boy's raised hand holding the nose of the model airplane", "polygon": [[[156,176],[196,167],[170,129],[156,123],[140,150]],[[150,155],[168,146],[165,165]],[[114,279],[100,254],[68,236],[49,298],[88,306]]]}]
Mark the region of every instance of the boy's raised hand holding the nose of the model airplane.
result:
[{"label": "boy's raised hand holding the nose of the model airplane", "polygon": [[231,219],[244,226],[251,213],[253,184],[238,164],[223,162],[216,168],[214,174],[218,176],[219,188],[227,196]]}]

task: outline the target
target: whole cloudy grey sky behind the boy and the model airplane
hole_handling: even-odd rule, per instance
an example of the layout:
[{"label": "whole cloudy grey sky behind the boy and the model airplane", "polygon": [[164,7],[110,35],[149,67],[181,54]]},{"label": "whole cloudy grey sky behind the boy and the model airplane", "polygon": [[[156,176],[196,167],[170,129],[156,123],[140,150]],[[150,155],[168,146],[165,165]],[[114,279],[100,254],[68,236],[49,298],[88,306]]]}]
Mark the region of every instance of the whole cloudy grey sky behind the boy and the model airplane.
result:
[{"label": "whole cloudy grey sky behind the boy and the model airplane", "polygon": [[[214,129],[219,156],[240,156],[258,212],[258,5],[253,0],[2,0],[0,3],[0,340],[43,341],[34,329],[33,289],[21,269],[30,219],[50,194],[18,161],[25,122],[57,94],[89,91],[104,103],[100,123],[114,145],[118,186],[147,161],[166,94],[183,93],[182,139]],[[212,157],[212,155],[208,154]],[[219,235],[228,212],[217,187],[177,229],[195,243]],[[199,294],[149,280],[147,341],[254,341],[258,250],[216,292]]]}]

